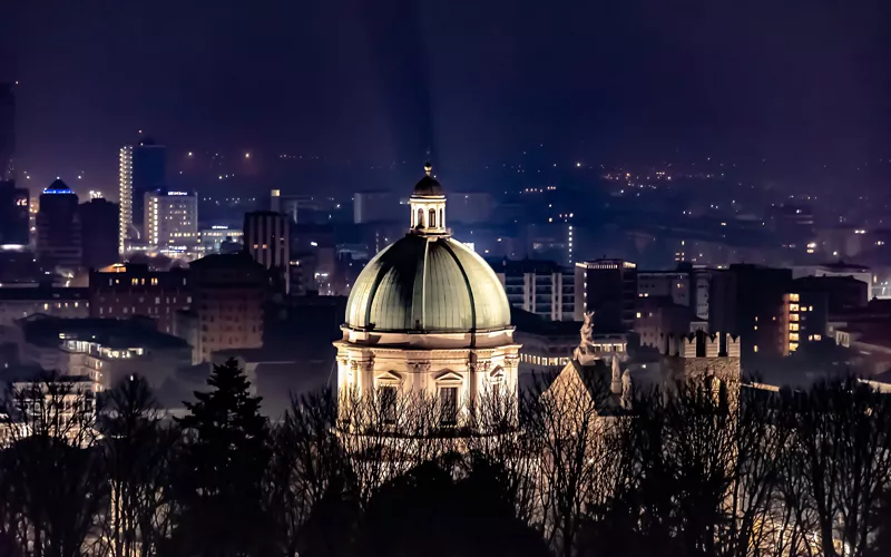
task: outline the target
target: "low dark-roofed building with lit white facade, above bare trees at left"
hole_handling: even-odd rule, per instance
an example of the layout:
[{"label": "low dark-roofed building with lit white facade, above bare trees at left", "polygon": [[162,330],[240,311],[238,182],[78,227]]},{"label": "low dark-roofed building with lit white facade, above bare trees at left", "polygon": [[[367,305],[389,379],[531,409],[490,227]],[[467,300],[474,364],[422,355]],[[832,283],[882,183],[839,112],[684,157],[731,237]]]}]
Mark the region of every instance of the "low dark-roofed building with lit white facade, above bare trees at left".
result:
[{"label": "low dark-roofed building with lit white facade, above bare trees at left", "polygon": [[138,373],[160,388],[190,364],[190,349],[160,333],[150,320],[58,319],[33,315],[18,321],[19,360],[62,375],[87,377],[99,390]]}]

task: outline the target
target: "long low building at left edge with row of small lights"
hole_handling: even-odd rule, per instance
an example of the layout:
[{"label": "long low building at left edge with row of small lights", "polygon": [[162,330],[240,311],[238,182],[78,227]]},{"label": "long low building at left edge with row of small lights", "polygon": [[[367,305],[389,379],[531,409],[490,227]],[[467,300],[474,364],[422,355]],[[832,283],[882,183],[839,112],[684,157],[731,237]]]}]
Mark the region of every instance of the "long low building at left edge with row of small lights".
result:
[{"label": "long low building at left edge with row of small lights", "polygon": [[89,316],[89,291],[62,289],[47,284],[22,287],[0,287],[0,329],[16,321],[42,314],[61,319]]}]

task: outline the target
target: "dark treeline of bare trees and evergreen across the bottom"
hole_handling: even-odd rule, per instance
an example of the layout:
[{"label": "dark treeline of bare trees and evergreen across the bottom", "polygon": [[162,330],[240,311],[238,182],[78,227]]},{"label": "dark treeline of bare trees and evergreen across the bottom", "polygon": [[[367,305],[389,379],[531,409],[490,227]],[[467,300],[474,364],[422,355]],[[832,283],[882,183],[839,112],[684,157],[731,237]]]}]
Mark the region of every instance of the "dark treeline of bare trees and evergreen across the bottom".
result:
[{"label": "dark treeline of bare trees and evergreen across the bottom", "polygon": [[173,419],[140,378],[99,412],[10,390],[0,557],[891,555],[891,401],[853,379],[691,380],[610,417],[608,383],[557,380],[446,424],[330,393],[271,423],[234,361],[208,387]]}]

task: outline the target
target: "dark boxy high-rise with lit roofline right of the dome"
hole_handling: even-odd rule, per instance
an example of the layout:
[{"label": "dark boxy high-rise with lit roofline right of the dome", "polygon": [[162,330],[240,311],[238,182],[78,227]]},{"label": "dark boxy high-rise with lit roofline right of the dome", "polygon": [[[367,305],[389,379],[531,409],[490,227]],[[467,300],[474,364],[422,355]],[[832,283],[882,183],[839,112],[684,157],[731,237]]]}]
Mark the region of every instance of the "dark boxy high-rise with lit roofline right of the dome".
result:
[{"label": "dark boxy high-rise with lit roofline right of the dome", "polygon": [[576,321],[594,312],[601,331],[634,328],[637,304],[637,265],[623,260],[576,263]]}]

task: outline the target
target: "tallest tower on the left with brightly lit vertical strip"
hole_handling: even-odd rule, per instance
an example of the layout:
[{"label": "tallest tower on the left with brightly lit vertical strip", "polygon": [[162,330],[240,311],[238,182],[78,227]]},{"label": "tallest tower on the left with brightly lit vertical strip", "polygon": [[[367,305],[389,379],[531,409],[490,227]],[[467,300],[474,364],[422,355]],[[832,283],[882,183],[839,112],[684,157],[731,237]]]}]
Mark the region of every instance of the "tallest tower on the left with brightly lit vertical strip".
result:
[{"label": "tallest tower on the left with brightly lit vertical strip", "polygon": [[165,185],[167,148],[149,138],[120,148],[120,246],[144,242],[145,194]]}]

